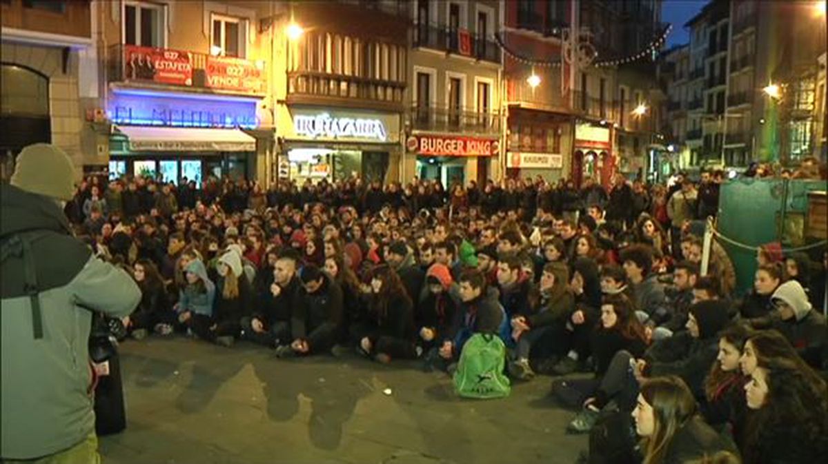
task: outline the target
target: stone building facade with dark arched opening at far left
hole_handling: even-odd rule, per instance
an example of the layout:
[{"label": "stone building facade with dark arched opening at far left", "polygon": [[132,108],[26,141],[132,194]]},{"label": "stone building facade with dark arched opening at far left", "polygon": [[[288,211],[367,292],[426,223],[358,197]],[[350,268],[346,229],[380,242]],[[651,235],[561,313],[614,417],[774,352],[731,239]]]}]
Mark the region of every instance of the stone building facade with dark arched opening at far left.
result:
[{"label": "stone building facade with dark arched opening at far left", "polygon": [[85,105],[98,97],[89,1],[3,0],[0,55],[0,175],[24,146],[53,143],[82,166],[105,160]]}]

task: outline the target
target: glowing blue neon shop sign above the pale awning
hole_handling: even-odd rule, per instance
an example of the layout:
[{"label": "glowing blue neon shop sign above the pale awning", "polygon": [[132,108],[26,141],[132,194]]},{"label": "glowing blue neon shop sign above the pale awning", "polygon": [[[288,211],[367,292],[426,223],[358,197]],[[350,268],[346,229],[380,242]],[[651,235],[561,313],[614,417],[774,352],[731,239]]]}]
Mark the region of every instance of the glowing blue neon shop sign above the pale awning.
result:
[{"label": "glowing blue neon shop sign above the pale awning", "polygon": [[120,90],[109,99],[115,124],[160,127],[258,127],[255,98]]}]

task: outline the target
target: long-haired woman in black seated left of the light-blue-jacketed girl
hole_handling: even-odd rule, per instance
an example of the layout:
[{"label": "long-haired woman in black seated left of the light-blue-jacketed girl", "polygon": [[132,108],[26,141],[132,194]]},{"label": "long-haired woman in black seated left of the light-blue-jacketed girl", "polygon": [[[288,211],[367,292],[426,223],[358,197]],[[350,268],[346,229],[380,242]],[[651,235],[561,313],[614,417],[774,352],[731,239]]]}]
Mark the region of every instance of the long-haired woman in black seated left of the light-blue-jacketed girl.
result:
[{"label": "long-haired woman in black seated left of the light-blue-jacketed girl", "polygon": [[138,260],[132,277],[141,289],[141,303],[129,316],[128,332],[136,340],[147,337],[152,330],[163,335],[171,333],[176,314],[171,311],[164,280],[156,265],[147,259]]}]

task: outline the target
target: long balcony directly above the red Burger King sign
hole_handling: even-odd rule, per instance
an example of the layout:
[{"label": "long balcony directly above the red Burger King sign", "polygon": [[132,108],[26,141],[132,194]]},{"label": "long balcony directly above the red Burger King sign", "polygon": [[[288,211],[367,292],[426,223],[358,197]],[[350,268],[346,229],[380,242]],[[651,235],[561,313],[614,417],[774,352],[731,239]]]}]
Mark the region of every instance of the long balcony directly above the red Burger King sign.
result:
[{"label": "long balcony directly above the red Burger King sign", "polygon": [[500,134],[498,113],[414,106],[410,108],[408,117],[412,129],[418,131]]}]

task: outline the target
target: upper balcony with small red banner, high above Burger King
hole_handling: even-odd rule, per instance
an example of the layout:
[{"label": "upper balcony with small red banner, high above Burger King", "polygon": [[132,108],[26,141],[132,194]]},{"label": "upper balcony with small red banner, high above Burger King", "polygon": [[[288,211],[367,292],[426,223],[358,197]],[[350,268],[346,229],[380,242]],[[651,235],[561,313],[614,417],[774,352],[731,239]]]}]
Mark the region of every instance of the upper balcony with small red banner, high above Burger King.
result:
[{"label": "upper balcony with small red banner, high above Burger King", "polygon": [[483,36],[469,31],[452,31],[446,26],[426,23],[414,26],[414,46],[446,51],[455,55],[469,56],[477,60],[500,63],[500,47]]}]

